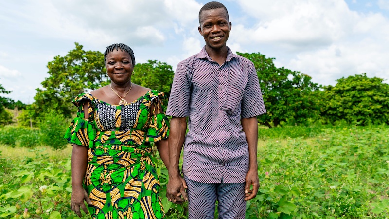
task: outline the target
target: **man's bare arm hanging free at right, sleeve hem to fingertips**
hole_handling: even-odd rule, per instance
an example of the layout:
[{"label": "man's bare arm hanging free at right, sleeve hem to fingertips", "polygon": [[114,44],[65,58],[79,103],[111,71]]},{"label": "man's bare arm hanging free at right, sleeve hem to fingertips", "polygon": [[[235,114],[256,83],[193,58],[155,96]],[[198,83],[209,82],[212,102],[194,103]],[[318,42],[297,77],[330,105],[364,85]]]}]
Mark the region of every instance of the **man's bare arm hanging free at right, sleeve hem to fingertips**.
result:
[{"label": "man's bare arm hanging free at right, sleeve hem to fingertips", "polygon": [[[258,179],[258,162],[257,162],[257,147],[258,147],[258,121],[257,117],[242,118],[241,124],[243,131],[246,134],[248,144],[249,167],[246,174],[245,200],[250,200],[257,196],[259,189]],[[252,189],[250,190],[250,186]]]}]

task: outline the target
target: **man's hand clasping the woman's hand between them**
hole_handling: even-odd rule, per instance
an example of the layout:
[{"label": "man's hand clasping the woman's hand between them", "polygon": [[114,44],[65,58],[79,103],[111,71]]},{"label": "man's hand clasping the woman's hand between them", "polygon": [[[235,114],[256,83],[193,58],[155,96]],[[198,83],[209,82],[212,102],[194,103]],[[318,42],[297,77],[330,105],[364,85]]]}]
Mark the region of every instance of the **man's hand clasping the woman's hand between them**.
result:
[{"label": "man's hand clasping the woman's hand between them", "polygon": [[166,188],[167,199],[175,204],[182,204],[188,200],[188,195],[185,191],[186,188],[188,187],[186,186],[184,178],[179,175],[177,177],[169,176]]}]

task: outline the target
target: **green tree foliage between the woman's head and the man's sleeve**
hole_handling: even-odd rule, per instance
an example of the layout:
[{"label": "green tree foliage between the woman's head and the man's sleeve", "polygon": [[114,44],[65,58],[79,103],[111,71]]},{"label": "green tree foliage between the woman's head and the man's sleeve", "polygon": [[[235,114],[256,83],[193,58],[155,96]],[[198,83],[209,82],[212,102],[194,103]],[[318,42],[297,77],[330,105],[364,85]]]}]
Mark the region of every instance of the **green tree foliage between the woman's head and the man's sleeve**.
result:
[{"label": "green tree foliage between the woman's head and the man's sleeve", "polygon": [[[131,77],[132,82],[162,91],[169,97],[174,77],[172,66],[165,62],[148,60],[147,63],[136,64],[134,72],[135,74]],[[167,102],[164,105],[167,106]]]}]

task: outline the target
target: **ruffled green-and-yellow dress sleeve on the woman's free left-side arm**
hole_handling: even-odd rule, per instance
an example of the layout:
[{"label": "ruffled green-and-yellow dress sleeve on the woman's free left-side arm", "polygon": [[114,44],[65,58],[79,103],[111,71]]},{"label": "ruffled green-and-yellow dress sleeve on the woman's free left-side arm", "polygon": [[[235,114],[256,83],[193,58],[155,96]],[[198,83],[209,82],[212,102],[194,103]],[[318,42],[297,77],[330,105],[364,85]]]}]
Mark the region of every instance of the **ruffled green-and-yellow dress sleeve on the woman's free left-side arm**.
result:
[{"label": "ruffled green-and-yellow dress sleeve on the woman's free left-side arm", "polygon": [[[93,127],[92,96],[88,93],[80,94],[72,101],[78,108],[77,116],[71,122],[64,138],[71,144],[92,147],[96,136]],[[85,119],[84,104],[88,104],[88,119]]]}]

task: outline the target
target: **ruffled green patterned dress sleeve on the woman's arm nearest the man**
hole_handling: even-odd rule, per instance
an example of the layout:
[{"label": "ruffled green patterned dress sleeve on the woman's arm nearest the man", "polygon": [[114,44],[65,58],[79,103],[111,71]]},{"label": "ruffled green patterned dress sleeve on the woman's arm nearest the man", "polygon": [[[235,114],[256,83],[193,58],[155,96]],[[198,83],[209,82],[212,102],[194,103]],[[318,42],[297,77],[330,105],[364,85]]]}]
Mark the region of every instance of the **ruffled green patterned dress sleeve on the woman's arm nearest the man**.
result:
[{"label": "ruffled green patterned dress sleeve on the woman's arm nearest the man", "polygon": [[165,94],[156,90],[149,92],[150,94],[150,125],[147,131],[146,141],[158,142],[169,137],[169,119],[162,108],[162,99],[165,99]]}]

